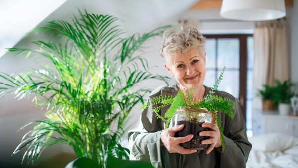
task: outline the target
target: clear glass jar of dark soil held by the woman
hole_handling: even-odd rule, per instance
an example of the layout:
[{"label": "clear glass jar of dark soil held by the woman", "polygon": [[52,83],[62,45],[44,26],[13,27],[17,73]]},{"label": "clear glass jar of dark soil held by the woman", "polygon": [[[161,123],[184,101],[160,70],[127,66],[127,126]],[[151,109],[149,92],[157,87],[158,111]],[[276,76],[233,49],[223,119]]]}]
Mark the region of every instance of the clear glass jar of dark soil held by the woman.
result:
[{"label": "clear glass jar of dark soil held by the woman", "polygon": [[184,125],[181,131],[175,133],[175,137],[185,137],[187,135],[194,135],[194,137],[185,143],[180,144],[185,149],[200,149],[205,150],[209,148],[210,144],[201,144],[203,140],[210,137],[200,136],[201,131],[209,131],[209,128],[203,128],[202,124],[205,122],[211,123],[212,117],[206,108],[190,108],[179,107],[173,116],[173,126]]}]

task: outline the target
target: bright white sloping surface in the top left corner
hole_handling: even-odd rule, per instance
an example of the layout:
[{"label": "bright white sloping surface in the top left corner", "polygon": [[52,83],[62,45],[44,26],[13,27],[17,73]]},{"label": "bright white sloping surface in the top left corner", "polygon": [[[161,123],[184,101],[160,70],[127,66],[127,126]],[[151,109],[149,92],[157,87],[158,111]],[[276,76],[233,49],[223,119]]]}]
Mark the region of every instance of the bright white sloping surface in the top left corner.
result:
[{"label": "bright white sloping surface in the top left corner", "polygon": [[0,0],[0,57],[65,1]]}]

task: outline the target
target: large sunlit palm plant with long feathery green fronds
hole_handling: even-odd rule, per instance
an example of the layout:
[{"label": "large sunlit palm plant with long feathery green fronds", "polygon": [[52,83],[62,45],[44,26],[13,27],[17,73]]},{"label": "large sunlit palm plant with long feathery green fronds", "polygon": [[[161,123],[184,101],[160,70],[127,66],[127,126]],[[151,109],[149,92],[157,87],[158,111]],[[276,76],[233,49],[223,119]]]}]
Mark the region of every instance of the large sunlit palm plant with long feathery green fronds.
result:
[{"label": "large sunlit palm plant with long feathery green fronds", "polygon": [[[34,58],[40,70],[17,76],[0,73],[4,79],[0,98],[8,93],[20,99],[33,94],[35,104],[49,110],[46,119],[27,124],[35,127],[13,152],[28,147],[24,154],[28,163],[57,143],[70,145],[79,158],[89,158],[99,167],[104,167],[108,155],[128,159],[129,150],[119,140],[132,108],[150,91],[135,86],[147,79],[169,82],[165,76],[151,74],[146,59],[134,55],[147,39],[162,35],[169,26],[130,35],[116,24],[116,17],[79,13],[73,23],[51,21],[31,31],[54,37],[33,41],[39,50],[8,50]],[[60,136],[53,136],[54,132]]]}]

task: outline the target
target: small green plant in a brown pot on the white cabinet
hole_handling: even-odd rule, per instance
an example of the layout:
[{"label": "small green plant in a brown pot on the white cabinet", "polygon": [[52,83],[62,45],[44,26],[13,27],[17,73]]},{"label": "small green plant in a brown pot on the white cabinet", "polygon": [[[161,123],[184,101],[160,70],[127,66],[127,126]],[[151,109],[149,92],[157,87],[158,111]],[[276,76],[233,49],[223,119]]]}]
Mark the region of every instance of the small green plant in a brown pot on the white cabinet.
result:
[{"label": "small green plant in a brown pot on the white cabinet", "polygon": [[278,104],[278,101],[274,99],[274,87],[267,84],[264,84],[263,87],[263,90],[258,90],[257,96],[262,98],[263,110],[272,111]]}]

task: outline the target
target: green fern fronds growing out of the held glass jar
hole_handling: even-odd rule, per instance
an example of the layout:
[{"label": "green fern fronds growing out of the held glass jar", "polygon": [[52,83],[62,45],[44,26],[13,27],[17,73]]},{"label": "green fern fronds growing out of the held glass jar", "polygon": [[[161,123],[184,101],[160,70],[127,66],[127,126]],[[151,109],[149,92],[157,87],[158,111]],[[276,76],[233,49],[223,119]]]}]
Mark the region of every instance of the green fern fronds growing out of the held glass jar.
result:
[{"label": "green fern fronds growing out of the held glass jar", "polygon": [[[225,70],[225,67],[224,67]],[[217,116],[217,111],[221,111],[226,113],[231,118],[234,118],[234,114],[232,112],[233,109],[235,109],[235,102],[229,98],[222,98],[214,94],[214,91],[217,90],[218,84],[223,80],[224,76],[224,70],[220,73],[220,77],[217,79],[213,87],[211,87],[210,94],[205,96],[203,100],[199,102],[194,102],[194,92],[195,89],[189,88],[188,93],[186,94],[185,91],[180,90],[178,94],[173,97],[169,95],[165,96],[158,96],[153,97],[151,101],[143,104],[139,110],[146,109],[149,105],[156,105],[156,104],[162,104],[161,106],[153,108],[153,111],[156,113],[157,118],[161,118],[165,122],[165,128],[168,127],[170,124],[172,117],[174,116],[174,113],[177,111],[179,106],[185,106],[185,107],[200,107],[200,108],[206,108],[208,111],[210,111],[213,114],[214,121],[216,121],[217,126],[219,127],[220,131],[220,139],[222,143],[222,151],[224,153],[224,133],[223,128],[221,127],[221,122]],[[193,98],[191,98],[193,96]],[[167,112],[164,114],[165,119],[161,115],[158,114],[159,110],[167,105],[171,105]]]}]

